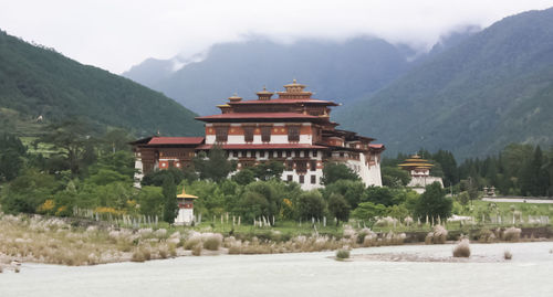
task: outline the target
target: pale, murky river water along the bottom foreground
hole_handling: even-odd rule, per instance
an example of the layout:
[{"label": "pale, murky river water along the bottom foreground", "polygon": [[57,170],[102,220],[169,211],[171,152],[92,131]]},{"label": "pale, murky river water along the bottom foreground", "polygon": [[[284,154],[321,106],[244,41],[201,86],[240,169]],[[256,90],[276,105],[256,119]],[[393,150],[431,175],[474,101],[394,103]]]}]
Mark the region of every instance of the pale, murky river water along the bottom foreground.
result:
[{"label": "pale, murky river water along the bottom foreground", "polygon": [[[452,245],[358,248],[449,256]],[[23,264],[0,296],[553,296],[553,243],[471,244],[488,263],[336,262],[334,253],[180,257],[86,267]],[[513,259],[503,262],[509,250]]]}]

